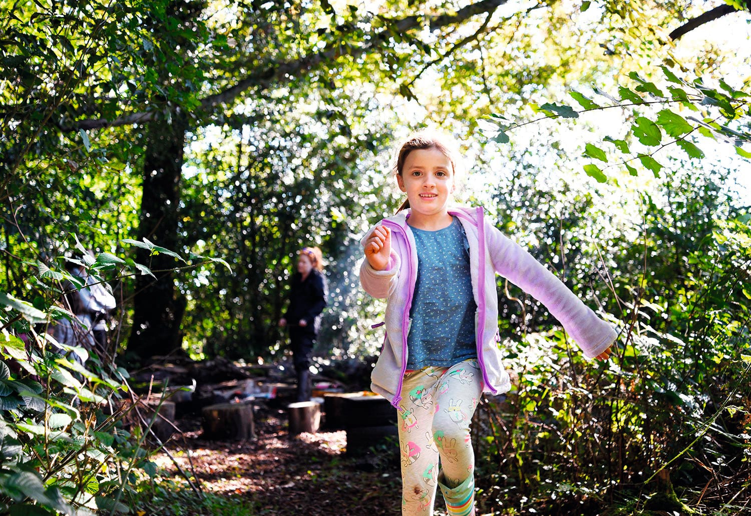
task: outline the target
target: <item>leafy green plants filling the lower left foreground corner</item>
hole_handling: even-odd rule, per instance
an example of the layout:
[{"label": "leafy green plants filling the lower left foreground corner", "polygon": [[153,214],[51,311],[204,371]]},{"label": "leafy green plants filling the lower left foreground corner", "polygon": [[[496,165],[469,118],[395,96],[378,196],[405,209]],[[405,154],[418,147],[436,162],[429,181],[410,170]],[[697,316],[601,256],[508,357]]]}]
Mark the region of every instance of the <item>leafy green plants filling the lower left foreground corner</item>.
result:
[{"label": "leafy green plants filling the lower left foreground corner", "polygon": [[[123,241],[169,254],[185,266],[222,260],[178,254],[151,242]],[[83,246],[77,248],[86,255]],[[90,277],[152,275],[147,266],[102,253],[81,265]],[[38,262],[31,283],[35,302],[0,292],[0,513],[113,514],[128,511],[119,501],[141,472],[156,474],[145,449],[154,416],[125,425],[137,407],[128,372],[113,357],[53,343],[47,327],[73,314],[55,304],[66,288],[83,287],[62,267]],[[56,344],[62,353],[56,353]],[[74,356],[83,360],[81,365]],[[127,408],[125,408],[127,407]],[[137,409],[136,409],[137,413]],[[130,420],[134,420],[131,417]]]}]

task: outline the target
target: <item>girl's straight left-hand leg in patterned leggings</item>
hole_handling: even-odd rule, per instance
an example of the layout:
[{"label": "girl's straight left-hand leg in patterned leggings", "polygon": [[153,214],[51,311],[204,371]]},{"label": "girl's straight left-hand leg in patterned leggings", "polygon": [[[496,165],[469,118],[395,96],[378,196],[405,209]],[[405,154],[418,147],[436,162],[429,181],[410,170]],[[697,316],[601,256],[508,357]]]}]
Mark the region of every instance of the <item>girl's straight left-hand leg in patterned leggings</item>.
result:
[{"label": "girl's straight left-hand leg in patterned leggings", "polygon": [[[414,371],[404,377],[399,413],[402,461],[402,516],[431,516],[436,501],[438,448],[430,431],[436,368]],[[443,371],[443,369],[439,369]]]}]

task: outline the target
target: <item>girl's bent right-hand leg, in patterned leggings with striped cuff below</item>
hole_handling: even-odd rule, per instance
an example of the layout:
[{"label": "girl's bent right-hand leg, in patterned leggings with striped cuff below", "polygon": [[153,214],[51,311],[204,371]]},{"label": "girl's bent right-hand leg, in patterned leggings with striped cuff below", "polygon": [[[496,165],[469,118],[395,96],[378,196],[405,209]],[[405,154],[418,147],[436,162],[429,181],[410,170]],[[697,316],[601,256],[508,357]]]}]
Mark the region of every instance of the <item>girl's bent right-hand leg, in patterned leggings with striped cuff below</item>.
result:
[{"label": "girl's bent right-hand leg, in patterned leggings with striped cuff below", "polygon": [[433,416],[433,437],[441,456],[439,487],[449,516],[475,514],[475,452],[469,424],[480,401],[482,374],[475,359],[441,376]]}]

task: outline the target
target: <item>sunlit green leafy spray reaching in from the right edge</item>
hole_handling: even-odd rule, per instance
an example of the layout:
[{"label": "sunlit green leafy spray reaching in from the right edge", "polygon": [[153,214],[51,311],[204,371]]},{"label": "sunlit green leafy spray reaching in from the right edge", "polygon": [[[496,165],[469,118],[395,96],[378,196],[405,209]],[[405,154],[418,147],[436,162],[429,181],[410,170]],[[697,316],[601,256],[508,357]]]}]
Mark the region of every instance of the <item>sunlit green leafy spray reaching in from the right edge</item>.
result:
[{"label": "sunlit green leafy spray reaching in from the right edge", "polygon": [[[659,86],[631,72],[631,87],[618,86],[617,96],[593,87],[596,95],[609,101],[607,105],[572,90],[569,95],[581,109],[556,103],[529,104],[535,113],[543,116],[511,121],[503,115],[490,115],[487,120],[495,124],[497,130],[489,130],[488,136],[496,142],[508,143],[508,133],[518,127],[549,118],[580,118],[584,113],[615,109],[625,112],[631,119],[631,124],[627,121],[623,127],[625,134],[620,138],[604,136],[602,141],[587,143],[584,148],[584,157],[594,160],[584,164],[584,172],[599,182],[607,181],[605,172],[614,167],[623,166],[630,175],[638,175],[636,163],[659,177],[663,165],[655,156],[671,145],[677,145],[689,158],[704,158],[704,151],[692,141],[697,135],[734,145],[738,155],[751,158],[751,150],[743,148],[751,144],[751,92],[734,89],[722,79],[717,81],[717,87],[709,86],[701,78],[681,79],[668,66],[660,68],[664,80]],[[679,110],[686,113],[681,115],[677,113]]]}]

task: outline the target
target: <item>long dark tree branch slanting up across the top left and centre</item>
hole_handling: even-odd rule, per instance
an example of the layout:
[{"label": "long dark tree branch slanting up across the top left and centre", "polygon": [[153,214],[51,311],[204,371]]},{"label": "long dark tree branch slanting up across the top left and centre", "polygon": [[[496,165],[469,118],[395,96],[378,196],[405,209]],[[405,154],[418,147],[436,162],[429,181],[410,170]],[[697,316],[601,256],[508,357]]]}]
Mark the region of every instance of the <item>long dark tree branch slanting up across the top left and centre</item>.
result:
[{"label": "long dark tree branch slanting up across the top left and centre", "polygon": [[[475,4],[467,5],[452,14],[442,14],[435,17],[406,17],[401,20],[394,20],[391,29],[387,27],[374,34],[370,43],[356,47],[339,45],[336,46],[336,48],[317,52],[314,55],[294,61],[270,65],[254,74],[250,74],[234,86],[225,89],[223,92],[209,95],[207,98],[204,98],[204,100],[201,101],[201,107],[198,109],[210,113],[213,112],[216,107],[234,101],[235,98],[239,97],[243,92],[246,92],[249,89],[266,89],[272,83],[283,80],[284,77],[300,77],[301,74],[317,67],[321,62],[333,61],[341,55],[348,54],[353,57],[361,55],[388,41],[393,30],[397,32],[410,31],[414,28],[421,27],[422,20],[427,20],[430,28],[435,30],[436,28],[445,27],[455,23],[463,23],[477,14],[490,13],[507,2],[508,0],[482,0]],[[345,52],[345,50],[347,51]],[[79,129],[100,129],[102,127],[119,127],[128,124],[144,123],[152,121],[157,113],[159,112],[146,111],[142,113],[132,113],[130,115],[120,116],[114,120],[107,120],[105,118],[86,119],[73,122],[61,127],[61,129],[66,132],[71,132]]]}]

